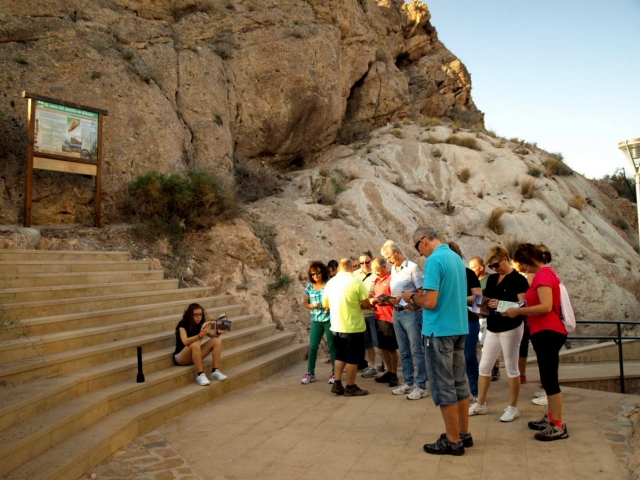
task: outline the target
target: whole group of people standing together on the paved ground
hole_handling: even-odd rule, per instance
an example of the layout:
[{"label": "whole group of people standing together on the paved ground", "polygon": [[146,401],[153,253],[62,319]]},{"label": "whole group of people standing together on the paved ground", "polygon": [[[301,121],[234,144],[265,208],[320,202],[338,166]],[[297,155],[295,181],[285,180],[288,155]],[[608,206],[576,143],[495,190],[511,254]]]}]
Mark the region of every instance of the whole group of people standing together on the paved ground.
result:
[{"label": "whole group of people standing together on the paved ground", "polygon": [[[500,420],[513,421],[519,416],[520,383],[526,381],[520,366],[526,364],[528,342],[523,342],[523,335],[528,321],[548,401],[548,413],[528,426],[538,431],[537,440],[567,438],[558,384],[558,354],[567,331],[561,320],[560,279],[548,266],[548,249],[521,244],[510,258],[504,247],[492,247],[485,261],[476,257],[470,262],[477,272],[480,265],[485,273],[485,263],[495,272],[482,275],[481,280],[465,267],[458,246],[443,244],[433,228],[418,228],[413,241],[416,251],[426,257],[424,274],[393,241],[382,246],[380,257],[361,253],[357,269],[349,258],[336,262],[333,277],[322,262],[310,265],[305,307],[311,313],[311,338],[308,372],[302,383],[316,381],[318,347],[326,336],[333,365],[329,378],[332,393],[368,394],[355,383],[358,365],[366,355],[368,369],[362,377],[386,383],[393,387],[391,393],[409,400],[425,398],[430,392],[440,407],[446,431],[435,443],[424,445],[424,450],[462,455],[465,448],[473,446],[469,416],[489,412],[487,393],[501,353],[510,394]],[[480,362],[479,318],[467,308],[474,295],[490,299]],[[520,301],[524,306],[498,313],[499,301]],[[384,372],[377,367],[376,349]],[[398,351],[402,385],[397,372]]]}]

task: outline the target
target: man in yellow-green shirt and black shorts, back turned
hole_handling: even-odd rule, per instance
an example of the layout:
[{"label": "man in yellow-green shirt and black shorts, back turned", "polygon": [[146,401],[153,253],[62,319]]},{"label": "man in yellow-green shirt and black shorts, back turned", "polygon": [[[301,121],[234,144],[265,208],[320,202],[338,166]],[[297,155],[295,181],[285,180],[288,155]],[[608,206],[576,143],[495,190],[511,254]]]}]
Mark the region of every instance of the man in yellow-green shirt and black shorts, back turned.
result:
[{"label": "man in yellow-green shirt and black shorts, back turned", "polygon": [[[371,308],[369,292],[362,280],[351,274],[351,260],[338,263],[338,273],[327,282],[322,295],[322,306],[331,314],[331,332],[335,349],[335,378],[331,393],[360,397],[368,395],[356,385],[358,362],[364,358],[363,308]],[[342,386],[342,372],[347,370],[347,386]]]}]

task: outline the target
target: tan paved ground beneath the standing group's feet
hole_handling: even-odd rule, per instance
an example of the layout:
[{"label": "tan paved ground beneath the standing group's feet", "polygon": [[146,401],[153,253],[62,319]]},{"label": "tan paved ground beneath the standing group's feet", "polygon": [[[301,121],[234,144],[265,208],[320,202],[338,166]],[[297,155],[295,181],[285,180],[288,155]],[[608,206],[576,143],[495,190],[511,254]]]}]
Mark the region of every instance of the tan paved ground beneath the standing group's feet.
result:
[{"label": "tan paved ground beneath the standing group's feet", "polygon": [[319,364],[318,381],[302,385],[306,364],[299,363],[137,438],[82,478],[628,479],[629,416],[640,397],[565,388],[570,438],[538,442],[526,425],[543,413],[530,402],[535,370],[530,365],[521,417],[511,423],[498,420],[507,382],[492,383],[491,411],[470,419],[475,445],[463,457],[423,452],[444,431],[431,398],[410,401],[360,377],[369,396],[337,397],[326,383],[329,365]]}]

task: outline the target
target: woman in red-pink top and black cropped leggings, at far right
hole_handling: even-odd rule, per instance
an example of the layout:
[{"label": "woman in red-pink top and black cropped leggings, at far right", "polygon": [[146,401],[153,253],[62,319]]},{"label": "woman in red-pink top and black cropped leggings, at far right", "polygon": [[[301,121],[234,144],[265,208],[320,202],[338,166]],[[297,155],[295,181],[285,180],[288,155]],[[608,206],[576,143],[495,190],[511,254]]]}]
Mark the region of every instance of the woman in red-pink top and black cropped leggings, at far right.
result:
[{"label": "woman in red-pink top and black cropped leggings, at far right", "polygon": [[567,425],[562,422],[562,393],[558,383],[558,354],[567,340],[567,330],[560,317],[560,278],[547,264],[551,253],[544,245],[523,243],[513,255],[520,270],[534,274],[527,290],[527,306],[511,308],[503,315],[514,318],[529,316],[531,343],[538,358],[542,387],[547,392],[549,411],[537,422],[529,422],[529,428],[539,430],[536,440],[551,441],[567,438]]}]

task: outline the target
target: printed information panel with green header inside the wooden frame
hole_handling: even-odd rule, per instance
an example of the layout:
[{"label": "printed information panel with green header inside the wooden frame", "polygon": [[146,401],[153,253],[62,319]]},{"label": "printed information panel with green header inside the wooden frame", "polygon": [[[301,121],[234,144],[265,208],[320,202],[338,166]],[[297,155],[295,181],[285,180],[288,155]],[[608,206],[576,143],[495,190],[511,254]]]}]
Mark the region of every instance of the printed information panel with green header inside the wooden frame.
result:
[{"label": "printed information panel with green header inside the wooden frame", "polygon": [[34,152],[98,160],[98,114],[36,101]]}]

